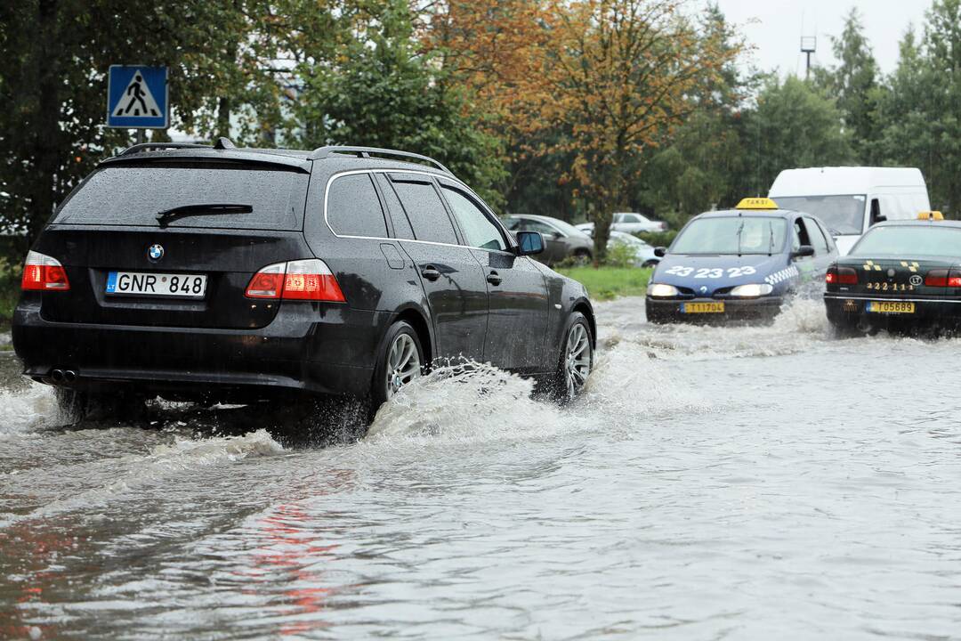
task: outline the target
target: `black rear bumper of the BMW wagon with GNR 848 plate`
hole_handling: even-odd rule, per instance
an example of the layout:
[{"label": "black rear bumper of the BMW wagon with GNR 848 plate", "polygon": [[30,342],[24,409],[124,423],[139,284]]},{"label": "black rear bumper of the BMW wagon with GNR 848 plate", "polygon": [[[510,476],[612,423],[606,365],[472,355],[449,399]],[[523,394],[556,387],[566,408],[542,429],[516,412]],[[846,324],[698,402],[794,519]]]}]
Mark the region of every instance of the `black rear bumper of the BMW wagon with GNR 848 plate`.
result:
[{"label": "black rear bumper of the BMW wagon with GNR 848 plate", "polygon": [[[266,397],[278,392],[369,393],[376,346],[392,314],[284,303],[257,330],[61,323],[24,301],[13,348],[24,374],[53,382],[76,374],[78,389],[125,389],[168,397]],[[71,377],[72,378],[72,377]]]}]

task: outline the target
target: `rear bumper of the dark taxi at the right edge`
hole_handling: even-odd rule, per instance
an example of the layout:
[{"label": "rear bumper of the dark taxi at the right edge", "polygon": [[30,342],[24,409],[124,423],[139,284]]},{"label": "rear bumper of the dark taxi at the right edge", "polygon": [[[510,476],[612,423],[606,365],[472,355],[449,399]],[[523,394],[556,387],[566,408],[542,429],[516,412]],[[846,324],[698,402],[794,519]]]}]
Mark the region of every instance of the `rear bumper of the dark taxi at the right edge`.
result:
[{"label": "rear bumper of the dark taxi at the right edge", "polygon": [[[914,303],[914,313],[877,313],[868,304],[877,302]],[[825,293],[827,320],[839,327],[912,327],[919,325],[961,325],[961,299],[881,298]]]}]

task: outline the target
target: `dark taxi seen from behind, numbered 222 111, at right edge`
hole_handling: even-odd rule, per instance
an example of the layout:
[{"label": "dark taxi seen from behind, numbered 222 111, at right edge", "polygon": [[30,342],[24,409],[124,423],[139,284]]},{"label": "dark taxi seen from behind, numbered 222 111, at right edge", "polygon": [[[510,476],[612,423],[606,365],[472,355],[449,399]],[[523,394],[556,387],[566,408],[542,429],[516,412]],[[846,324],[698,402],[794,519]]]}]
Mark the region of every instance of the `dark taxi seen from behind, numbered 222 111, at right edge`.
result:
[{"label": "dark taxi seen from behind, numbered 222 111, at right edge", "polygon": [[845,332],[956,329],[961,321],[961,223],[925,211],[878,223],[825,275],[830,323]]}]

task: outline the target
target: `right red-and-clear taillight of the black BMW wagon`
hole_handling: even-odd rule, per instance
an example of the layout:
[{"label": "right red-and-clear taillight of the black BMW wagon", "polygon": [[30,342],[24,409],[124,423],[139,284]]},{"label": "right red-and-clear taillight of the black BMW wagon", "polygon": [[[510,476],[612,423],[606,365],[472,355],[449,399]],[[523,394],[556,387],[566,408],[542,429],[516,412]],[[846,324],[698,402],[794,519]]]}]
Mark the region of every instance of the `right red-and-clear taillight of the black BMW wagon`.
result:
[{"label": "right red-and-clear taillight of the black BMW wagon", "polygon": [[248,298],[346,302],[333,272],[320,259],[291,260],[268,265],[254,274],[245,293]]}]

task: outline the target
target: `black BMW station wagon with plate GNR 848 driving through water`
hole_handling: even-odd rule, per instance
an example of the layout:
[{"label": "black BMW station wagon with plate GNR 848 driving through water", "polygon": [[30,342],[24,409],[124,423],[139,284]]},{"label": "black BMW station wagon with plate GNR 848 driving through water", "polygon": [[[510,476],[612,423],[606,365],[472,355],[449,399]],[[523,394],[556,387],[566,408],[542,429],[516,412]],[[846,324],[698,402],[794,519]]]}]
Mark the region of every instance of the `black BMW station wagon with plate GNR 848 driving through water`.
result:
[{"label": "black BMW station wagon with plate GNR 848 driving through water", "polygon": [[594,314],[580,284],[529,258],[542,250],[426,157],[141,144],[37,238],[13,346],[75,410],[278,392],[376,408],[461,358],[569,399]]}]

